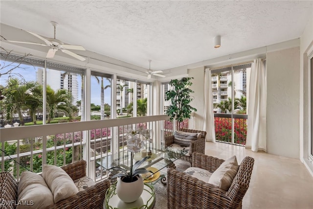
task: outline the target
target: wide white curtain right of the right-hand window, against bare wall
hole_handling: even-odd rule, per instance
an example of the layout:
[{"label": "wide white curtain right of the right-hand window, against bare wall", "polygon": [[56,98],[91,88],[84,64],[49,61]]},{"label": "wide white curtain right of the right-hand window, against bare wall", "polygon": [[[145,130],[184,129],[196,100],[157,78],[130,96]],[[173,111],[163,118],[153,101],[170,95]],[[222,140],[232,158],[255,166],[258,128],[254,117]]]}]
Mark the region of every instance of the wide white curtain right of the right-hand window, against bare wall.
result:
[{"label": "wide white curtain right of the right-hand window, against bare wall", "polygon": [[248,90],[248,121],[246,148],[266,150],[266,76],[262,59],[251,65]]}]

